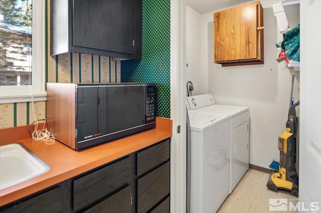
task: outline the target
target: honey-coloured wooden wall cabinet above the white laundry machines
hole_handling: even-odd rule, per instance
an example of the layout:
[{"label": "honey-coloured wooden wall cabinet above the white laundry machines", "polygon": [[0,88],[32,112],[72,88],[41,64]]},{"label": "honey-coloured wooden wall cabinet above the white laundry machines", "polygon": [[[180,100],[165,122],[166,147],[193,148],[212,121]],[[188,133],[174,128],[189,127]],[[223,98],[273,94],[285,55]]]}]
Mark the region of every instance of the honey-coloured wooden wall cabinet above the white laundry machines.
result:
[{"label": "honey-coloured wooden wall cabinet above the white laundry machines", "polygon": [[259,1],[214,12],[214,63],[264,63],[263,7]]}]

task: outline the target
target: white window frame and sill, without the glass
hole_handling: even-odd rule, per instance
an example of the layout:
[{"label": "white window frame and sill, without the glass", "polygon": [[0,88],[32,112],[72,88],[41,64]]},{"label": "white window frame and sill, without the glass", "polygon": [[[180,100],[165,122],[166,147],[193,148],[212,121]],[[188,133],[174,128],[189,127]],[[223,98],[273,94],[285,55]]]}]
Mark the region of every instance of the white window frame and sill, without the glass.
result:
[{"label": "white window frame and sill, without the glass", "polygon": [[46,100],[45,1],[32,3],[32,85],[0,86],[0,103]]}]

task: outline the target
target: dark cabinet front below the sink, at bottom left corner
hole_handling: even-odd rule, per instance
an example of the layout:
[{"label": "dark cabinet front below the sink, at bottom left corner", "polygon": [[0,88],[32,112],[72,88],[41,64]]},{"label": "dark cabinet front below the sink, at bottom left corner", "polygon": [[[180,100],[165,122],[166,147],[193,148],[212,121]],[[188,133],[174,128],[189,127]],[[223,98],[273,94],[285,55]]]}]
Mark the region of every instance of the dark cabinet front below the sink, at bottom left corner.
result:
[{"label": "dark cabinet front below the sink, at bottom left corner", "polygon": [[61,187],[37,195],[0,212],[61,212]]}]

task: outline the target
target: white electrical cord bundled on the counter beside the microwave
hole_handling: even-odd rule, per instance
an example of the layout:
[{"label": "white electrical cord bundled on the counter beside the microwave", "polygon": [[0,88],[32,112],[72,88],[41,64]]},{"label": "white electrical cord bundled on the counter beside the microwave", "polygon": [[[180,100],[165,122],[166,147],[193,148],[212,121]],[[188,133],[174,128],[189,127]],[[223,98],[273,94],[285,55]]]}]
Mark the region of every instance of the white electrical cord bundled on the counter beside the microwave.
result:
[{"label": "white electrical cord bundled on the counter beside the microwave", "polygon": [[32,108],[33,108],[34,118],[35,118],[35,128],[34,128],[34,131],[31,133],[32,139],[33,140],[45,140],[46,144],[54,144],[56,138],[54,137],[54,135],[50,134],[50,132],[47,130],[47,128],[45,128],[47,118],[45,119],[43,128],[38,130],[39,120],[36,117],[34,95],[32,94],[31,86],[29,87],[29,89],[31,92],[31,102],[32,102]]}]

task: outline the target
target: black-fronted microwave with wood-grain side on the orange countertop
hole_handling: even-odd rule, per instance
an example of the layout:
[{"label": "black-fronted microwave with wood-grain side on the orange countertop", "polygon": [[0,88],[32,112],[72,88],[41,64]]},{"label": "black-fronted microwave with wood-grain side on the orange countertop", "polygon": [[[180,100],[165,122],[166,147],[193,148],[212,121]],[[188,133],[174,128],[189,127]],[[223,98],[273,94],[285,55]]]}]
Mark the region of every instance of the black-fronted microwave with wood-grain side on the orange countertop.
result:
[{"label": "black-fronted microwave with wood-grain side on the orange countertop", "polygon": [[80,150],[155,127],[154,83],[47,83],[47,127]]}]

